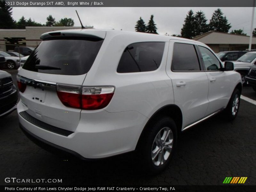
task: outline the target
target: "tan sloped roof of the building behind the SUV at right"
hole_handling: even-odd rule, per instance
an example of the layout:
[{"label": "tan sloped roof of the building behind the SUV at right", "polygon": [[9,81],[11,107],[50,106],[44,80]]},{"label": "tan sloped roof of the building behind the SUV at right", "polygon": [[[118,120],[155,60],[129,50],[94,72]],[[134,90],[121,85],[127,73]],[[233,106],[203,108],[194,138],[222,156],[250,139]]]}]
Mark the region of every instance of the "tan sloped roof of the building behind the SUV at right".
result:
[{"label": "tan sloped roof of the building behind the SUV at right", "polygon": [[[250,36],[209,31],[192,39],[204,44],[249,44]],[[256,44],[256,37],[252,37],[252,44]]]}]

